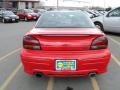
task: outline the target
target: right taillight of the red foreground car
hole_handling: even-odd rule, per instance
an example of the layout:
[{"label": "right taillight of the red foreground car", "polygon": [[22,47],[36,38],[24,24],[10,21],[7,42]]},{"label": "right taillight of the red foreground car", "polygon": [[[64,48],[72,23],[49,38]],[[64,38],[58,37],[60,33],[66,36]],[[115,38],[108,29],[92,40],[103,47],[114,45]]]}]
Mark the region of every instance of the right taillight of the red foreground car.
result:
[{"label": "right taillight of the red foreground car", "polygon": [[91,50],[105,49],[108,47],[108,40],[105,36],[97,37],[92,41]]}]

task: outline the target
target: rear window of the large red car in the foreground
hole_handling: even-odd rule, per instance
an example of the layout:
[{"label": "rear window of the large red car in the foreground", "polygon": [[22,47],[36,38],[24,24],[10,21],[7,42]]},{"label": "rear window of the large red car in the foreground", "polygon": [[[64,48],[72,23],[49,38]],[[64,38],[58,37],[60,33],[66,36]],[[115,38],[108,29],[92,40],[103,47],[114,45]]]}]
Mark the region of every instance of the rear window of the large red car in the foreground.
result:
[{"label": "rear window of the large red car in the foreground", "polygon": [[94,24],[82,12],[46,12],[38,20],[36,28],[93,28]]}]

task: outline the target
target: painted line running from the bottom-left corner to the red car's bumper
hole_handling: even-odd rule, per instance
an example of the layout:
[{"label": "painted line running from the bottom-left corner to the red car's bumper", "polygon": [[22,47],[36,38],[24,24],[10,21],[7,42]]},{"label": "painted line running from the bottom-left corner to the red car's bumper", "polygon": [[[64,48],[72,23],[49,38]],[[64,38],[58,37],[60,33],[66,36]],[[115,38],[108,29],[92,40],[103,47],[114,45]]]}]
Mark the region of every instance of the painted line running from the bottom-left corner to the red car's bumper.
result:
[{"label": "painted line running from the bottom-left corner to the red car's bumper", "polygon": [[11,82],[11,80],[15,77],[16,73],[19,71],[19,69],[22,67],[22,64],[20,63],[15,70],[11,73],[11,75],[5,80],[5,82],[0,86],[0,90],[5,90],[8,84]]}]

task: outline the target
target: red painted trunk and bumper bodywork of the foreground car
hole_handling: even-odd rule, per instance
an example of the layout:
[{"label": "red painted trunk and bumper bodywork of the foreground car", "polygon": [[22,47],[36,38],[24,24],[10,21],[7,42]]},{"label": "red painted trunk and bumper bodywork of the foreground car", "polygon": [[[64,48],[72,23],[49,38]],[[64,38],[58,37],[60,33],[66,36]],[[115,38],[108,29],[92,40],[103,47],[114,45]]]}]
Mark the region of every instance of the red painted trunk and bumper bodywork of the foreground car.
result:
[{"label": "red painted trunk and bumper bodywork of the foreground car", "polygon": [[[42,72],[48,76],[85,76],[90,72],[98,74],[107,71],[110,60],[108,48],[90,50],[92,41],[104,34],[90,28],[32,29],[30,35],[40,42],[41,50],[22,49],[21,60],[25,72]],[[75,71],[56,71],[57,59],[77,60]]]}]

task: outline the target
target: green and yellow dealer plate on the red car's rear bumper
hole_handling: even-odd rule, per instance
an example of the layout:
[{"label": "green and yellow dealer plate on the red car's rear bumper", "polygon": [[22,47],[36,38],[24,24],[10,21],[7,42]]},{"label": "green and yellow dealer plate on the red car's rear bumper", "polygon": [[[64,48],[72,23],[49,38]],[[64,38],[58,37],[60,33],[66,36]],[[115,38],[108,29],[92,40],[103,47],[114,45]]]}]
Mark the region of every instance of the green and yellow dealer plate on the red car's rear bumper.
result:
[{"label": "green and yellow dealer plate on the red car's rear bumper", "polygon": [[56,60],[56,70],[76,70],[76,60]]}]

